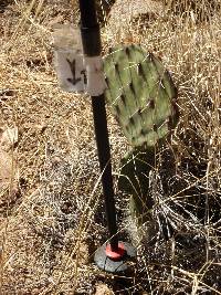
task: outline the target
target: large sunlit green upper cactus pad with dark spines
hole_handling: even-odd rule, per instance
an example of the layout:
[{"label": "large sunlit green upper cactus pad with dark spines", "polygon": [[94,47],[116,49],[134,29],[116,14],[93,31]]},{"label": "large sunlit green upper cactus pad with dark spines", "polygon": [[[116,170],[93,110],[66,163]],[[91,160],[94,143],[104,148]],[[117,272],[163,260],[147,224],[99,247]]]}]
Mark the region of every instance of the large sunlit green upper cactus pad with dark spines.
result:
[{"label": "large sunlit green upper cactus pad with dark spines", "polygon": [[160,60],[138,45],[117,46],[104,59],[105,96],[134,147],[152,147],[176,125],[177,89]]}]

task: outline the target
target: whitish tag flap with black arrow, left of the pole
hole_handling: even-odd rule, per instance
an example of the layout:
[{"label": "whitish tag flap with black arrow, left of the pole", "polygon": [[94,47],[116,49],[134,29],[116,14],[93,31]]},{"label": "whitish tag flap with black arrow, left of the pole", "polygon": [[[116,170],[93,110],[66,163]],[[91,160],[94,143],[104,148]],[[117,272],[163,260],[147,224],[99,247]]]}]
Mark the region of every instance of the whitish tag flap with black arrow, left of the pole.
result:
[{"label": "whitish tag flap with black arrow, left of the pole", "polygon": [[60,87],[66,92],[85,92],[86,74],[78,30],[70,24],[56,24],[53,44]]}]

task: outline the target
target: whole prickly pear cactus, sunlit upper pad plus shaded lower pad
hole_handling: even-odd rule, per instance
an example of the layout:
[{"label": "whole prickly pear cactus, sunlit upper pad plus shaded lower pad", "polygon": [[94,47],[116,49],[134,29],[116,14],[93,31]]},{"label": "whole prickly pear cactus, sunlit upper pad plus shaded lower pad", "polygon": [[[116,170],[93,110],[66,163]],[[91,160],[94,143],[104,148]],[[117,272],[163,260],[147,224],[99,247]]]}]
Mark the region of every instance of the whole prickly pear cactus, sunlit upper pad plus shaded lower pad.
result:
[{"label": "whole prickly pear cactus, sunlit upper pad plus shaded lower pad", "polygon": [[113,49],[104,72],[107,104],[133,146],[122,159],[118,188],[131,194],[130,212],[140,224],[154,203],[148,179],[156,148],[178,120],[177,88],[160,60],[134,44]]}]

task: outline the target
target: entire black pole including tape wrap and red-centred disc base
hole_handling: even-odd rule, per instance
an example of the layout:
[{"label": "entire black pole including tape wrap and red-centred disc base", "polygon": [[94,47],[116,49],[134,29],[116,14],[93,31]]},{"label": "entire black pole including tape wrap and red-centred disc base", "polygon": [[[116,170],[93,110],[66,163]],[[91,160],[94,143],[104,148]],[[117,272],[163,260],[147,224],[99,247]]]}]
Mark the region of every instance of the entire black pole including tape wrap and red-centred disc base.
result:
[{"label": "entire black pole including tape wrap and red-centred disc base", "polygon": [[127,268],[128,257],[136,256],[136,251],[127,243],[118,241],[104,96],[105,82],[103,83],[102,81],[101,34],[95,2],[94,0],[80,0],[78,2],[83,53],[87,70],[87,93],[92,97],[94,128],[109,231],[109,243],[106,243],[96,251],[95,262],[107,272],[122,272]]}]

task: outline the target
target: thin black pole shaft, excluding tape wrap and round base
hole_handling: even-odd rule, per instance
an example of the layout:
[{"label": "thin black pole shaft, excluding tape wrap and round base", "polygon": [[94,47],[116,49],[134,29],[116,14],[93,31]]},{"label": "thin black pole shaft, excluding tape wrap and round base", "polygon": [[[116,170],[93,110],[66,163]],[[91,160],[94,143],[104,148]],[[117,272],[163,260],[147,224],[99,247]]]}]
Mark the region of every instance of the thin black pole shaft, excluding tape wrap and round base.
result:
[{"label": "thin black pole shaft, excluding tape wrap and round base", "polygon": [[[91,57],[99,56],[102,50],[101,34],[94,0],[80,0],[80,11],[84,55]],[[102,186],[105,198],[107,226],[110,235],[109,244],[112,251],[117,251],[117,222],[104,94],[98,96],[92,96],[92,108],[94,115],[94,128],[99,159],[99,168],[102,172]]]}]

